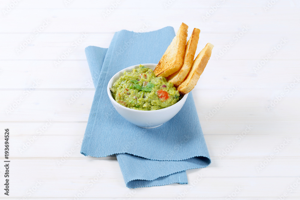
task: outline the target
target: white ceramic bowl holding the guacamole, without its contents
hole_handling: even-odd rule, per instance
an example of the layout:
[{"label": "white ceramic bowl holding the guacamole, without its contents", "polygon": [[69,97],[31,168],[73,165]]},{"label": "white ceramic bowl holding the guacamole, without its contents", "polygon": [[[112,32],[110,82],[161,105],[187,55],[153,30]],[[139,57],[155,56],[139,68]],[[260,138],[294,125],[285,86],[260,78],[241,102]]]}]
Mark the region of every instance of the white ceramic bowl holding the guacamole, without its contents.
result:
[{"label": "white ceramic bowl holding the guacamole, without its contents", "polygon": [[[157,64],[142,64],[142,65],[154,70]],[[182,108],[183,104],[185,103],[188,94],[185,94],[184,97],[182,97],[182,99],[179,100],[179,102],[175,103],[174,105],[160,110],[135,110],[120,105],[119,103],[116,102],[116,100],[114,100],[110,88],[116,82],[116,80],[119,79],[120,76],[123,76],[124,71],[129,72],[133,68],[139,68],[139,66],[140,64],[127,67],[124,70],[121,70],[118,73],[116,73],[108,82],[107,94],[116,111],[118,111],[120,115],[122,115],[125,119],[127,119],[131,123],[142,128],[159,127],[165,122],[169,121],[171,118],[173,118],[179,112],[179,110]]]}]

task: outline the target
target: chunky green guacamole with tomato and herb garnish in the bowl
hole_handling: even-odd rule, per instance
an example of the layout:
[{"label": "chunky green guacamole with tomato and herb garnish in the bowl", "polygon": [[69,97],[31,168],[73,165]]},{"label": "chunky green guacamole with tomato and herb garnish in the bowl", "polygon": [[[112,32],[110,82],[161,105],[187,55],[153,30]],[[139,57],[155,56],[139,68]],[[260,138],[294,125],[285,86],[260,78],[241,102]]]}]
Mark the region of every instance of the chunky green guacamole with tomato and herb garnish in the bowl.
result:
[{"label": "chunky green guacamole with tomato and herb garnish in the bowl", "polygon": [[140,65],[124,72],[110,88],[113,98],[127,108],[158,110],[179,101],[179,92],[164,77],[156,77],[152,69]]}]

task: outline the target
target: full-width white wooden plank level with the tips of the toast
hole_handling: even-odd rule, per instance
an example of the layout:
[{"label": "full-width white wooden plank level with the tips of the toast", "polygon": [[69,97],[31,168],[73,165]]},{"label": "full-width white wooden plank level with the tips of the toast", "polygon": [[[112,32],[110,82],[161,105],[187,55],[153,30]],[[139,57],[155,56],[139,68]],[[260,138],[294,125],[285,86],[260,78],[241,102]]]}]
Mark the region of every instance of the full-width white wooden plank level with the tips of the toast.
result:
[{"label": "full-width white wooden plank level with the tips of the toast", "polygon": [[[18,9],[16,7],[4,16],[5,20],[3,20],[2,24],[6,27],[6,33],[31,33],[43,23],[44,19],[48,19],[51,23],[45,31],[55,33],[62,31],[77,33],[115,32],[121,29],[138,31],[143,27],[144,23],[148,23],[151,26],[149,31],[168,25],[178,29],[180,22],[185,22],[190,27],[202,28],[209,33],[234,33],[243,25],[249,25],[253,28],[253,31],[259,33],[286,33],[292,30],[299,31],[298,25],[300,23],[297,20],[299,17],[298,8],[288,7],[284,9],[280,7],[280,5],[286,5],[284,2],[277,2],[276,6],[273,6],[268,12],[265,12],[263,7],[238,9],[235,7],[224,7],[221,9],[220,7],[207,20],[203,20],[202,16],[205,16],[211,8],[198,8],[197,10],[186,8],[184,11],[182,11],[181,7],[165,9],[162,2],[156,8],[121,9],[123,5],[120,4],[105,18],[102,13],[106,12],[106,9]],[[214,4],[211,4],[209,7],[211,6],[214,6]],[[182,12],[180,18],[178,12]],[[148,17],[145,13],[148,13],[148,15],[150,13],[153,14],[151,17]],[[19,16],[23,17],[20,18]],[[73,22],[76,22],[76,26],[73,25]]]}]

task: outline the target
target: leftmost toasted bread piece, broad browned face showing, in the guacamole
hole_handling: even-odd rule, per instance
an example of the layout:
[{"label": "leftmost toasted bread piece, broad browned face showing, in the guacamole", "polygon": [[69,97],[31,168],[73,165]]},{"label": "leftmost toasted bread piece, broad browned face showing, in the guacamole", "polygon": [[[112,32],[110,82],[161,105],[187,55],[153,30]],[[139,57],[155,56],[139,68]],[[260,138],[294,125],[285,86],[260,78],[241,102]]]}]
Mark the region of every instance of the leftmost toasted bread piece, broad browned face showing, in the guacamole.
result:
[{"label": "leftmost toasted bread piece, broad browned face showing, in the guacamole", "polygon": [[187,28],[188,26],[185,23],[180,25],[176,36],[155,67],[155,76],[167,77],[182,67],[187,42]]}]

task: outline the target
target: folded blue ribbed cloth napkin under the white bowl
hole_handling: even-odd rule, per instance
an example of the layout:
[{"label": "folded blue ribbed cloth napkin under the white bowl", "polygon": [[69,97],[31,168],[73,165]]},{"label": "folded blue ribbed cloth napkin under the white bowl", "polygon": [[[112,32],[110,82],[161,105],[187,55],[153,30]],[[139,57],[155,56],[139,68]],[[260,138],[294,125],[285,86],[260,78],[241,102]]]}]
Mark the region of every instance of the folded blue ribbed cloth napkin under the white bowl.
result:
[{"label": "folded blue ribbed cloth napkin under the white bowl", "polygon": [[125,120],[107,96],[115,73],[136,64],[158,63],[174,36],[172,27],[145,33],[122,30],[108,49],[85,49],[96,91],[80,153],[116,154],[129,188],[187,184],[185,170],[211,163],[191,93],[175,117],[153,129]]}]

